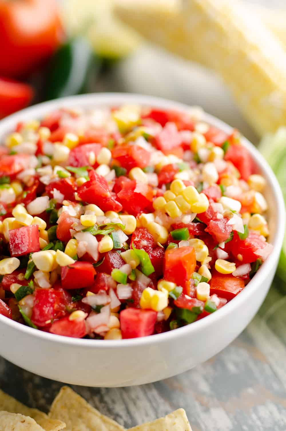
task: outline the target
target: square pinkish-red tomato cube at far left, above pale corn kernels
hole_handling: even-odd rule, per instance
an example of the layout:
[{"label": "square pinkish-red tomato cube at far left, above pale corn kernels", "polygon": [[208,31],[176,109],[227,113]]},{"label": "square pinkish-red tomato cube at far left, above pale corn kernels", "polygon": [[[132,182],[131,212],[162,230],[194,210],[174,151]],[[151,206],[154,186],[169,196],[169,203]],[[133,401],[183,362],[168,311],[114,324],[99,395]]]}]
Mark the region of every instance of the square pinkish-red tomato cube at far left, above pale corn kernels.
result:
[{"label": "square pinkish-red tomato cube at far left, above pale corn kernels", "polygon": [[24,256],[40,250],[38,225],[23,226],[9,231],[9,245],[12,257]]}]

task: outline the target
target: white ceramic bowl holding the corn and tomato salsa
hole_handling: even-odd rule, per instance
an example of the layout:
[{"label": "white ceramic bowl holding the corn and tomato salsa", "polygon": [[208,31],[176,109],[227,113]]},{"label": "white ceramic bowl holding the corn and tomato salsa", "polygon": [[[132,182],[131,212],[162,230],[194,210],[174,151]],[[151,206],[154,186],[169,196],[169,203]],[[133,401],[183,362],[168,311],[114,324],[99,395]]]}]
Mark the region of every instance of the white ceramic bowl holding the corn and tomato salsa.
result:
[{"label": "white ceramic bowl holding the corn and tomato salsa", "polygon": [[[41,118],[62,106],[94,107],[137,103],[184,111],[187,106],[136,94],[89,94],[41,103],[0,122],[0,141],[18,121]],[[231,128],[213,116],[204,120]],[[41,376],[70,384],[98,387],[131,386],[168,378],[191,369],[240,334],[261,306],[272,282],[284,235],[284,202],[279,184],[260,153],[243,144],[267,180],[270,242],[273,252],[245,289],[222,309],[183,328],[132,340],[82,340],[48,334],[0,315],[0,354]]]}]

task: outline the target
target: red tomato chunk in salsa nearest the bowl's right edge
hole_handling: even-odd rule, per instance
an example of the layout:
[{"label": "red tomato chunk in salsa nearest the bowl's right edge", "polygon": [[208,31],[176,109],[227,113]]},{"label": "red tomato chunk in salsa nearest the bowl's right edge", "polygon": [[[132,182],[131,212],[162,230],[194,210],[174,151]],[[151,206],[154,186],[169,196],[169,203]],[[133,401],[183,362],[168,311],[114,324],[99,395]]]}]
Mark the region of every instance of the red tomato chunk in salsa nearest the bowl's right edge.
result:
[{"label": "red tomato chunk in salsa nearest the bowl's right edge", "polygon": [[255,262],[259,256],[255,254],[258,249],[264,249],[267,242],[263,240],[260,234],[250,231],[245,240],[241,240],[237,232],[234,232],[233,240],[231,241],[231,251],[235,258],[238,254],[242,255],[242,263]]}]

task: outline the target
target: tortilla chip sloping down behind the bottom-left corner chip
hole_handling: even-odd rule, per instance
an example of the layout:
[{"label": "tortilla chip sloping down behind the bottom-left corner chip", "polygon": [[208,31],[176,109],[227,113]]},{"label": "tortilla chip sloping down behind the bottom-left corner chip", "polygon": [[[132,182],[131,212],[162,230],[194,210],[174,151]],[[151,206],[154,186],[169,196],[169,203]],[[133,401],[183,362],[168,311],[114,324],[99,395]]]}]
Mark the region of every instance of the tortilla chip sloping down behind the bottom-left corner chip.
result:
[{"label": "tortilla chip sloping down behind the bottom-left corner chip", "polygon": [[65,423],[50,419],[48,415],[38,409],[30,409],[10,395],[5,394],[0,389],[0,410],[5,410],[10,413],[20,413],[25,416],[30,416],[38,425],[44,428],[45,431],[59,431],[65,428]]}]

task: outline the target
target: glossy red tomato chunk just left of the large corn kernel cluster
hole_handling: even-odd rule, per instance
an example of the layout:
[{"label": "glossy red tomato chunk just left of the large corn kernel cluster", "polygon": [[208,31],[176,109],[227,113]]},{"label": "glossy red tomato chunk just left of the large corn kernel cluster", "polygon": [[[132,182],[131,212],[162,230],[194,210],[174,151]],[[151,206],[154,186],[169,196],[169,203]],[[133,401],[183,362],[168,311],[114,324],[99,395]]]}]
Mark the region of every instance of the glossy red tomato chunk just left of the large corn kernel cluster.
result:
[{"label": "glossy red tomato chunk just left of the large corn kernel cluster", "polygon": [[123,184],[117,197],[128,214],[137,215],[150,205],[153,191],[147,184],[130,181]]}]

